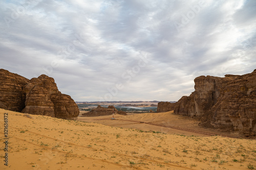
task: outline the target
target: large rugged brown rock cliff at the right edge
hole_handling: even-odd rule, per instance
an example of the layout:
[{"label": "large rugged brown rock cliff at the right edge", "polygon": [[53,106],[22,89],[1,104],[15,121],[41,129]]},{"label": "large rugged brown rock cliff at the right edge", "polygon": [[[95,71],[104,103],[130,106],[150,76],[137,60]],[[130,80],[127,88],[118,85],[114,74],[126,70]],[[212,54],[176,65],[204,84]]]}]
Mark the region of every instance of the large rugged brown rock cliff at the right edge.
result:
[{"label": "large rugged brown rock cliff at the right edge", "polygon": [[255,135],[256,69],[242,76],[200,76],[194,81],[195,91],[175,104],[175,114],[199,116],[204,126]]}]

